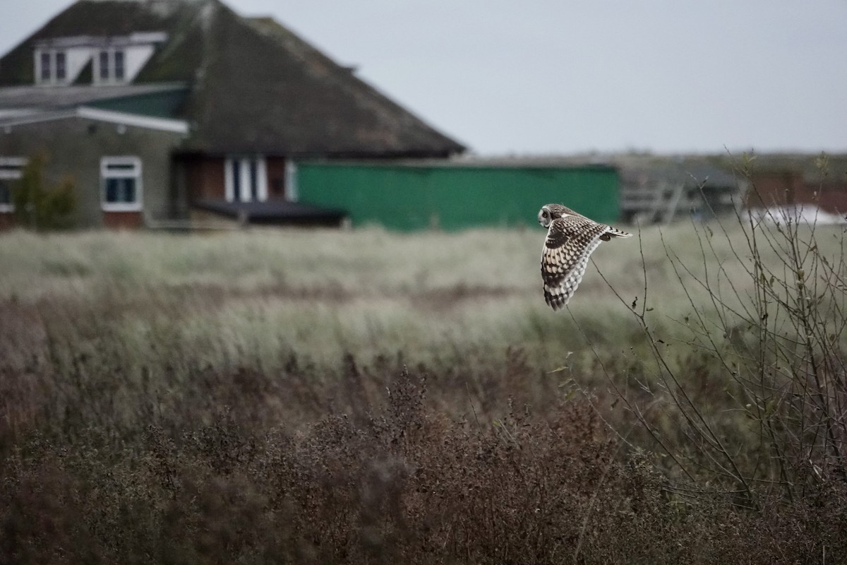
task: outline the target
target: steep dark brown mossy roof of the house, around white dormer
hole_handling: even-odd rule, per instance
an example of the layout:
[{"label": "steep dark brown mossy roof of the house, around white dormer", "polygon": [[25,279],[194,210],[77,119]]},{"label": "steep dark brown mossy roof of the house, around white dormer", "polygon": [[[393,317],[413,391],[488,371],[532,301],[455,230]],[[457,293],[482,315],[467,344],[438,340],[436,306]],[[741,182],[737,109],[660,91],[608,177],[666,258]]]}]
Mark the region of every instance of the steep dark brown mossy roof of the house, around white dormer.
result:
[{"label": "steep dark brown mossy roof of the house, around white dormer", "polygon": [[40,40],[139,31],[164,31],[168,40],[135,84],[190,85],[186,151],[442,157],[464,150],[283,25],[242,18],[219,0],[80,0],[0,58],[0,86],[33,83]]}]

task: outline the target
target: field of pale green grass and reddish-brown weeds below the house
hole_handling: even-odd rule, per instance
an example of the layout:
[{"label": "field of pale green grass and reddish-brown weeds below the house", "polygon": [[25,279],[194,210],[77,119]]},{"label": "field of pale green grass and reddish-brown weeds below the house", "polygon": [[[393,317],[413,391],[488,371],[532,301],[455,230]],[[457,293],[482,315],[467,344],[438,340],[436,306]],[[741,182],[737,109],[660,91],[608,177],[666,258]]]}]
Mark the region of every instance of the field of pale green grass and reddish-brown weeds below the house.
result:
[{"label": "field of pale green grass and reddish-brown weeds below the house", "polygon": [[0,561],[847,560],[843,229],[544,235],[0,235]]}]

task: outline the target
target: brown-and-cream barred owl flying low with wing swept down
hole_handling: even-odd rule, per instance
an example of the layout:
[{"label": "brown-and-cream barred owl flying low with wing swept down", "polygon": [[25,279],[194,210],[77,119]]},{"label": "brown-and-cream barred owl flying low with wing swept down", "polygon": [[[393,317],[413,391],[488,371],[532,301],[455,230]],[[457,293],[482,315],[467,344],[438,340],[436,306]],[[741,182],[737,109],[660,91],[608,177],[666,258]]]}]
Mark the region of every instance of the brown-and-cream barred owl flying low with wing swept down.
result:
[{"label": "brown-and-cream barred owl flying low with wing swept down", "polygon": [[549,228],[541,252],[544,299],[554,310],[567,304],[577,290],[588,266],[588,258],[612,237],[632,237],[611,225],[598,224],[561,204],[547,204],[538,213],[538,223]]}]

